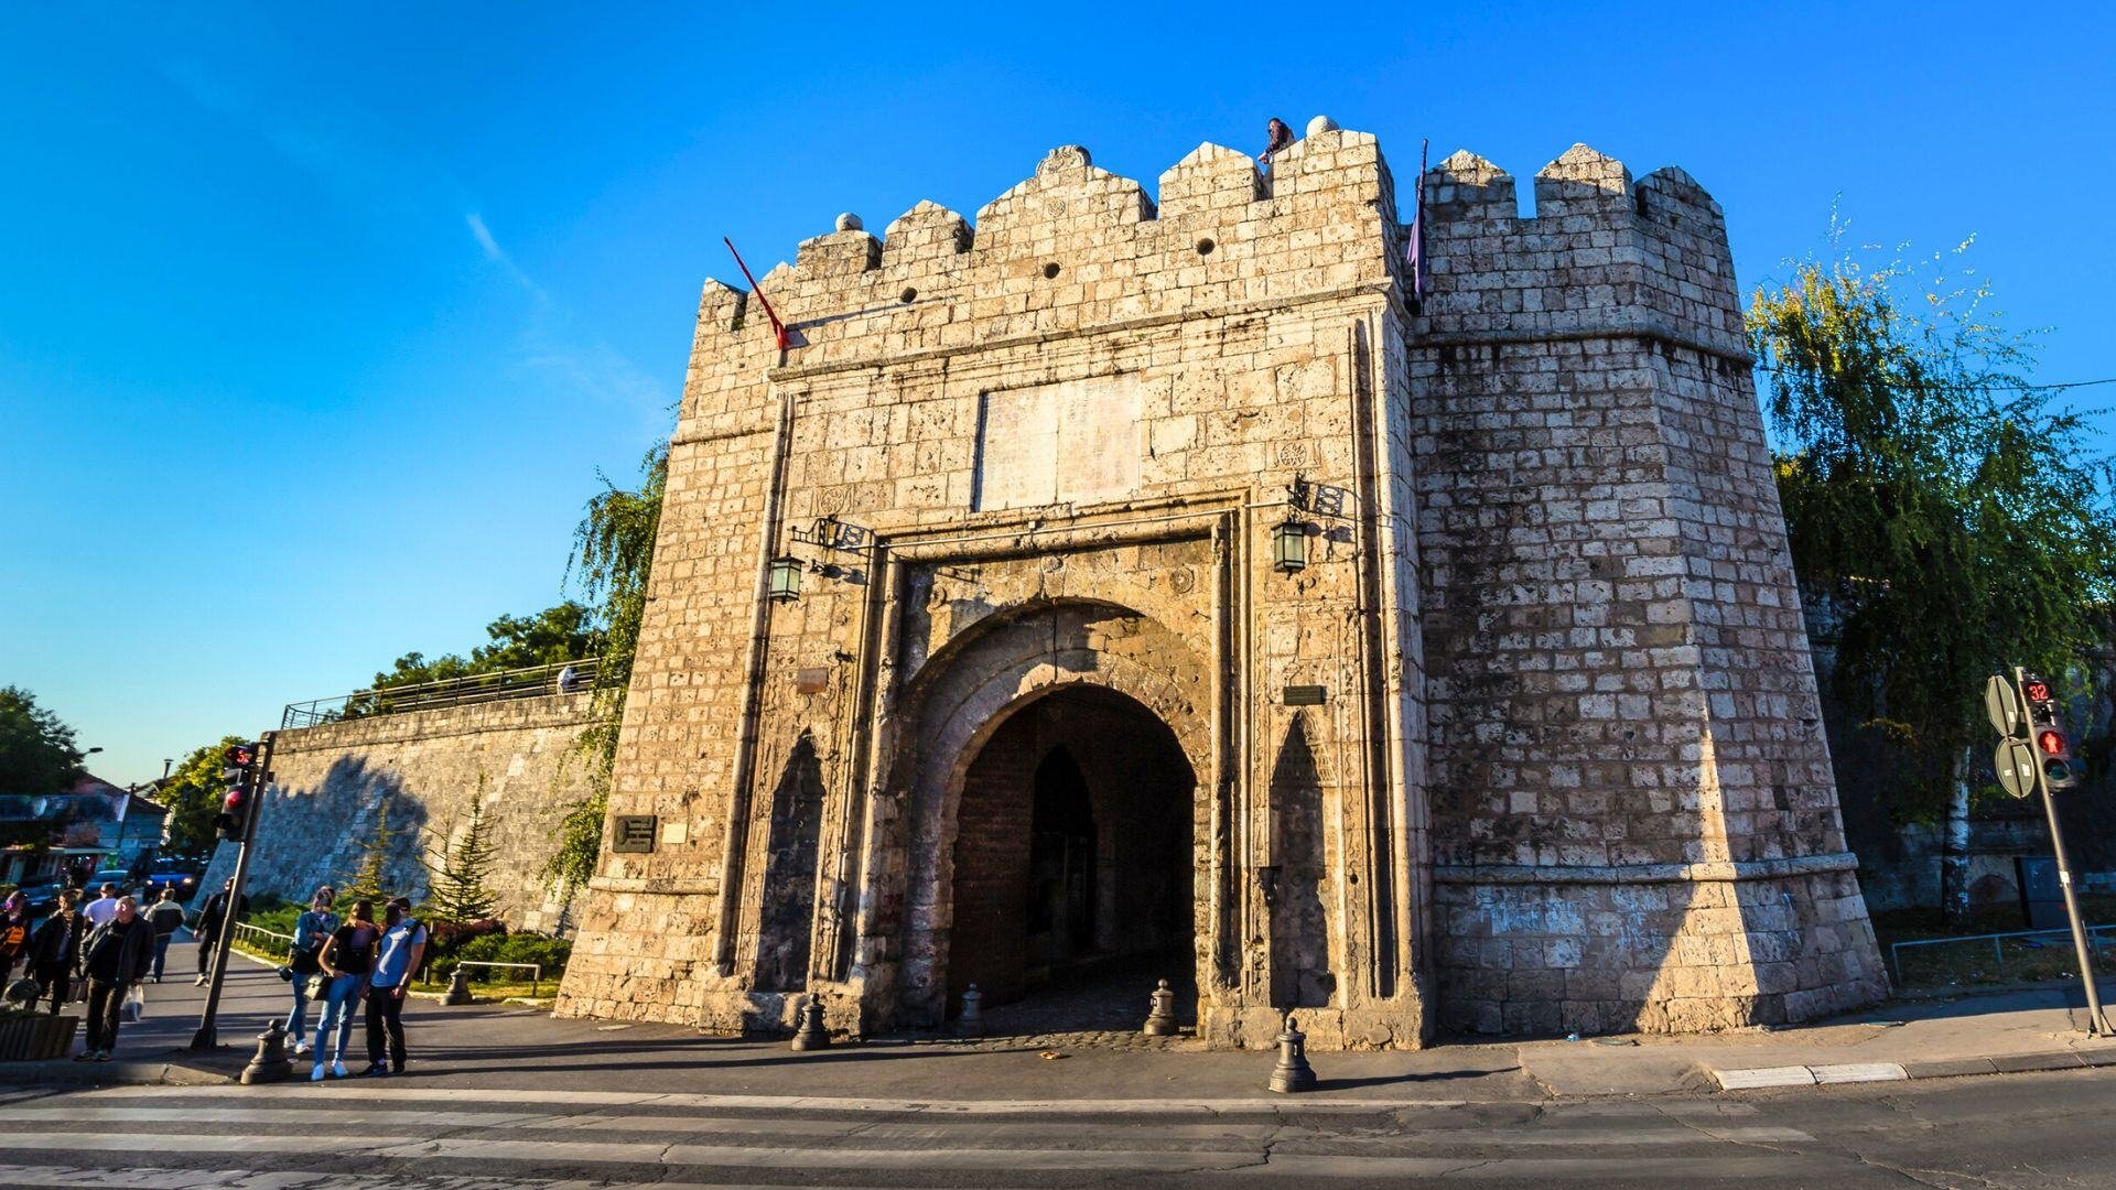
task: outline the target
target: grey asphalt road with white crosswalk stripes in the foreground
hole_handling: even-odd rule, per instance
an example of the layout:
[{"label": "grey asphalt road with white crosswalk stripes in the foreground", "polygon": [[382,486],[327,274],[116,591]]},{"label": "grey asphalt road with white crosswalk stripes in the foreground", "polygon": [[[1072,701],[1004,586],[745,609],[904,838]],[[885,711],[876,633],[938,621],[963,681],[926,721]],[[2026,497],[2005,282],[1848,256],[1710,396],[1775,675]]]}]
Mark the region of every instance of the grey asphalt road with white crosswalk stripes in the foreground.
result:
[{"label": "grey asphalt road with white crosswalk stripes in the foreground", "polygon": [[[529,1080],[523,1080],[529,1082]],[[404,1080],[0,1097],[0,1186],[2112,1186],[2103,1069],[1399,1107],[764,1099]]]}]

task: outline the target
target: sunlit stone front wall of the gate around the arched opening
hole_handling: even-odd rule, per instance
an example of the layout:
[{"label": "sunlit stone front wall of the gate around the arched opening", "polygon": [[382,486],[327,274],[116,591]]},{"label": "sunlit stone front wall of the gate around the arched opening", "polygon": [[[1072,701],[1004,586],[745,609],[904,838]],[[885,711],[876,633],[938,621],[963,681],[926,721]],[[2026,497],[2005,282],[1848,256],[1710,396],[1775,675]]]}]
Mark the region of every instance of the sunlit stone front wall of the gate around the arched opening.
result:
[{"label": "sunlit stone front wall of the gate around the arched opening", "polygon": [[[1094,629],[1071,652],[1045,639],[1041,661],[980,654],[1020,661],[1024,686],[971,684],[971,705],[997,716],[1039,684],[1130,684],[1185,739],[1204,1004],[1223,1040],[1270,1044],[1267,777],[1284,686],[1325,686],[1308,739],[1335,777],[1312,790],[1312,822],[1329,824],[1312,847],[1337,862],[1301,966],[1322,987],[1325,963],[1335,991],[1316,1029],[1413,1044],[1422,885],[1401,839],[1418,794],[1390,718],[1416,678],[1401,699],[1367,695],[1401,682],[1384,678],[1403,629],[1382,608],[1407,574],[1407,538],[1382,534],[1371,500],[1399,462],[1375,434],[1392,210],[1380,146],[1333,127],[1270,178],[1200,146],[1162,176],[1160,203],[1069,146],[975,227],[918,203],[880,239],[844,218],[804,241],[760,280],[783,351],[753,294],[707,284],[612,800],[658,815],[662,843],[605,860],[559,1010],[787,1018],[789,997],[758,987],[755,957],[781,949],[779,925],[764,930],[764,805],[810,739],[829,800],[808,987],[834,1025],[933,1014],[952,889],[927,851],[952,832],[969,756],[931,750],[982,737],[920,709],[920,682],[950,682],[920,663],[959,665],[1001,625],[1096,606],[1111,625],[1141,614],[1138,631],[1187,661],[1134,667]],[[1282,510],[1295,476],[1369,498],[1312,519],[1314,565],[1274,576],[1278,515],[1257,508]],[[825,517],[857,544],[796,538]],[[770,603],[781,553],[829,570]]]}]

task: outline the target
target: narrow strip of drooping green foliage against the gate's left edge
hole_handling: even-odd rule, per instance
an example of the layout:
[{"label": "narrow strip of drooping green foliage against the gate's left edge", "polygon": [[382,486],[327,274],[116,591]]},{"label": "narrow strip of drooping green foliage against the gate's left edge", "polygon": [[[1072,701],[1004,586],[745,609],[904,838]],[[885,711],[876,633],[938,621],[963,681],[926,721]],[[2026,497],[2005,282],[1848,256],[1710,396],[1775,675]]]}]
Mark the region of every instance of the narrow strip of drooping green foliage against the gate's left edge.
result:
[{"label": "narrow strip of drooping green foliage against the gate's left edge", "polygon": [[618,756],[618,726],[624,722],[624,695],[654,570],[654,536],[669,489],[669,447],[654,447],[639,462],[637,491],[624,491],[601,474],[597,479],[603,491],[588,500],[567,563],[567,580],[578,582],[582,597],[597,608],[603,659],[595,669],[595,722],[573,741],[573,754],[588,767],[588,794],[567,807],[559,822],[559,849],[544,864],[544,879],[561,900],[588,883],[603,849],[609,771]]}]

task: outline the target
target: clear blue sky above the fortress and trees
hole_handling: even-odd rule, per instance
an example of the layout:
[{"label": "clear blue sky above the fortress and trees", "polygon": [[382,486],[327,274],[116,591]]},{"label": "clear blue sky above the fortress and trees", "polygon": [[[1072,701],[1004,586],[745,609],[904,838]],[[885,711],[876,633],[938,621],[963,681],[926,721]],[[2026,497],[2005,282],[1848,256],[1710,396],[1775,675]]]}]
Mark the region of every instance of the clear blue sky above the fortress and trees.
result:
[{"label": "clear blue sky above the fortress and trees", "polygon": [[80,8],[0,11],[0,684],[116,781],[557,601],[722,235],[762,273],[1054,144],[1151,186],[1272,114],[1399,180],[1585,140],[1695,174],[1744,284],[1841,193],[1976,233],[2044,379],[2116,375],[2105,6]]}]

